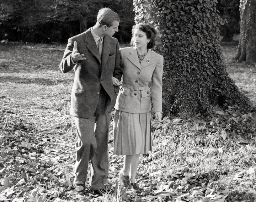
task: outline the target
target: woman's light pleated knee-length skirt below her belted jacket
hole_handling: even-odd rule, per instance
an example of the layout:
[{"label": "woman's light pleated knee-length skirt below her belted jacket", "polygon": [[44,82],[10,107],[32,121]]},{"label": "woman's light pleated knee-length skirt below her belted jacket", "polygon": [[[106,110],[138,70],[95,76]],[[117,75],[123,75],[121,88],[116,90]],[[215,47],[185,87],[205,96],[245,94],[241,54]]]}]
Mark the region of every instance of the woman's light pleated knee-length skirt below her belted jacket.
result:
[{"label": "woman's light pleated knee-length skirt below her belted jacket", "polygon": [[145,154],[152,150],[150,112],[133,114],[116,110],[113,130],[113,154]]}]

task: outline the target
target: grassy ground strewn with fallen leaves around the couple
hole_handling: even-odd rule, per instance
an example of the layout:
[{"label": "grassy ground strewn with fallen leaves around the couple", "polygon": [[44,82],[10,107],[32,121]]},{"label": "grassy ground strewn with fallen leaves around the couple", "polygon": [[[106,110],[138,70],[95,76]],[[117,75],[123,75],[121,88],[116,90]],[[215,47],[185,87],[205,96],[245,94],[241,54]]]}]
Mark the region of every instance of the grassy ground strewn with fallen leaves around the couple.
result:
[{"label": "grassy ground strewn with fallen leaves around the couple", "polygon": [[[230,77],[256,105],[255,67],[233,60],[236,44],[222,47]],[[138,169],[145,190],[139,196],[117,181],[122,157],[112,155],[111,131],[111,190],[103,197],[75,192],[73,72],[58,68],[64,48],[0,45],[0,201],[256,201],[255,118],[233,116],[232,108],[207,120],[153,122],[153,151]]]}]

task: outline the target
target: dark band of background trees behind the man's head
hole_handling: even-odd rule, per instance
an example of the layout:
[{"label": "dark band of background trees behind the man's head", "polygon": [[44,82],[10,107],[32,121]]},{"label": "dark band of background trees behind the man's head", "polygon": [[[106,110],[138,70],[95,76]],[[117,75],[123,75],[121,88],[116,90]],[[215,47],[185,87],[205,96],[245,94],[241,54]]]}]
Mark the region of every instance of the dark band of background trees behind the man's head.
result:
[{"label": "dark band of background trees behind the man's head", "polygon": [[0,39],[28,42],[66,42],[96,22],[97,12],[109,7],[121,17],[114,37],[130,41],[133,0],[0,0]]}]

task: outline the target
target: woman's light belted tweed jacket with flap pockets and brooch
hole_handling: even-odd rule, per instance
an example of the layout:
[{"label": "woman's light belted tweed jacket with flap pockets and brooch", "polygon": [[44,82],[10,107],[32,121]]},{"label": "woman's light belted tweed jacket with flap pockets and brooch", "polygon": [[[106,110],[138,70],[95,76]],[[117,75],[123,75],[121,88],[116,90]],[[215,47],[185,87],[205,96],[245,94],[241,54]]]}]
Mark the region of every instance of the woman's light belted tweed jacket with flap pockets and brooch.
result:
[{"label": "woman's light belted tweed jacket with flap pockets and brooch", "polygon": [[119,51],[123,83],[114,108],[129,113],[149,112],[151,95],[154,112],[162,112],[163,56],[149,50],[139,63],[135,47],[121,48]]}]

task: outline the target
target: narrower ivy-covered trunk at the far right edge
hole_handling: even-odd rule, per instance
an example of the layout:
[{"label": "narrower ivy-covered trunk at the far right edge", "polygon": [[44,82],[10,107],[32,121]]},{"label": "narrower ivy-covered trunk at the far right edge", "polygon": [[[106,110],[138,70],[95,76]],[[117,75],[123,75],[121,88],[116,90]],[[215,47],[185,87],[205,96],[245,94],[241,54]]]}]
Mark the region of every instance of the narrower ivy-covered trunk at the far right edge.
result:
[{"label": "narrower ivy-covered trunk at the far right edge", "polygon": [[240,0],[240,40],[236,59],[256,63],[256,1]]}]

